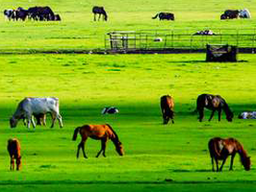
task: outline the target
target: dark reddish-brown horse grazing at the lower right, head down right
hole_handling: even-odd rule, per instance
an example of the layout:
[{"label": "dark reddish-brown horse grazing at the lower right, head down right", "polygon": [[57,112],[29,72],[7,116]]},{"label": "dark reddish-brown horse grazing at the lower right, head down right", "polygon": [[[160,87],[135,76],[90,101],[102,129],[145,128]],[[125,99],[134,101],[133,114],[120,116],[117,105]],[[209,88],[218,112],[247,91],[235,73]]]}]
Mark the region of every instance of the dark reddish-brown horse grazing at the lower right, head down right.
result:
[{"label": "dark reddish-brown horse grazing at the lower right, head down right", "polygon": [[[214,162],[216,163],[216,171],[222,171],[223,165],[226,162],[226,159],[231,155],[231,162],[229,171],[233,170],[233,162],[236,153],[240,155],[240,161],[244,166],[246,171],[250,170],[250,157],[248,157],[246,150],[243,149],[243,146],[235,138],[211,138],[208,143],[210,155],[212,158],[213,172],[214,172]],[[219,169],[218,160],[223,160],[222,165]]]}]

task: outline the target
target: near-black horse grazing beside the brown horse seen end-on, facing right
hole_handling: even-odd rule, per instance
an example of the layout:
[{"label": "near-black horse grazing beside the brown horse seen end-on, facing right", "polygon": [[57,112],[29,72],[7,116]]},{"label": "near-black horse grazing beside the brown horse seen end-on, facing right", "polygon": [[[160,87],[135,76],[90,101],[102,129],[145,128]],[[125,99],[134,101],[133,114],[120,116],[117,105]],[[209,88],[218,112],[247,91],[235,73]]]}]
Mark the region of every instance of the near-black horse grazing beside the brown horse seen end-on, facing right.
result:
[{"label": "near-black horse grazing beside the brown horse seen end-on, facing right", "polygon": [[203,108],[212,110],[209,121],[212,120],[214,112],[218,111],[219,121],[221,120],[221,112],[224,110],[226,113],[226,120],[231,122],[234,114],[229,109],[226,101],[220,95],[201,94],[197,99],[197,111],[199,112],[199,120],[203,118]]}]

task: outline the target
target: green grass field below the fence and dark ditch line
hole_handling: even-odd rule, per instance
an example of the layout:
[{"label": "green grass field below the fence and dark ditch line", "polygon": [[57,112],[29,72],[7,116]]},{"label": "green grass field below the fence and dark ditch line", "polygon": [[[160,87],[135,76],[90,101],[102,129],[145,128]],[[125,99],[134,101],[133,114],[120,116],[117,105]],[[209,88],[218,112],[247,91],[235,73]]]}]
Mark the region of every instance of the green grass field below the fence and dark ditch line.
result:
[{"label": "green grass field below the fence and dark ditch line", "polygon": [[[203,190],[241,188],[255,190],[255,168],[243,170],[239,158],[235,171],[212,173],[207,150],[209,138],[235,137],[255,154],[255,122],[238,120],[238,113],[255,106],[255,62],[240,54],[238,63],[205,63],[204,54],[0,55],[0,188],[8,190],[92,191],[126,188],[127,191]],[[195,109],[198,94],[218,93],[235,112],[225,118],[199,123]],[[175,125],[162,125],[159,98],[169,93],[176,101]],[[56,96],[60,99],[64,128],[43,126],[15,129],[8,118],[23,97]],[[101,115],[115,105],[117,115]],[[206,118],[209,113],[206,114]],[[48,119],[48,125],[50,124]],[[88,160],[76,160],[79,140],[73,130],[83,124],[111,124],[124,143],[126,155],[117,156],[108,143],[106,155],[96,159],[99,141],[88,140]],[[8,170],[8,138],[19,138],[23,167]],[[167,180],[167,181],[165,181]],[[170,181],[171,180],[171,181]]]}]

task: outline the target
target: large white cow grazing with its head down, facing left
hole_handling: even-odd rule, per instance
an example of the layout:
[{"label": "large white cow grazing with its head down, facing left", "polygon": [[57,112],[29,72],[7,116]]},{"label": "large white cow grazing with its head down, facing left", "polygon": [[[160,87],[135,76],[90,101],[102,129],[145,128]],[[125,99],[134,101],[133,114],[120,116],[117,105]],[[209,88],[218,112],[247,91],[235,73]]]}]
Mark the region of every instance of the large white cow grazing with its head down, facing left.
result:
[{"label": "large white cow grazing with its head down, facing left", "polygon": [[30,128],[30,123],[35,128],[33,115],[47,113],[52,115],[51,127],[54,127],[56,118],[58,119],[59,126],[63,127],[62,117],[59,114],[58,98],[25,98],[18,103],[16,112],[10,118],[10,126],[16,127],[18,120],[25,118],[28,128]]}]

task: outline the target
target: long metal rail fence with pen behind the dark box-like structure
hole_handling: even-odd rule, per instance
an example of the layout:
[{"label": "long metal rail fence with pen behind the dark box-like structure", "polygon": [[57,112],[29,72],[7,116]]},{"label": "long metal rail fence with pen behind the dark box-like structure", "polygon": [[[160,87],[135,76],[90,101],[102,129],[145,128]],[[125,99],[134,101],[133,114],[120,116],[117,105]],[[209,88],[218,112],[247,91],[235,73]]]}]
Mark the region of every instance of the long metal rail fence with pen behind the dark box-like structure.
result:
[{"label": "long metal rail fence with pen behind the dark box-like structure", "polygon": [[158,49],[205,49],[206,44],[230,44],[256,48],[256,29],[211,29],[213,35],[196,35],[197,30],[112,31],[105,36],[111,51]]}]

